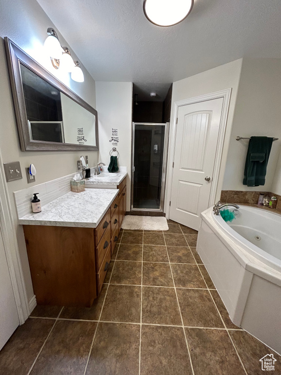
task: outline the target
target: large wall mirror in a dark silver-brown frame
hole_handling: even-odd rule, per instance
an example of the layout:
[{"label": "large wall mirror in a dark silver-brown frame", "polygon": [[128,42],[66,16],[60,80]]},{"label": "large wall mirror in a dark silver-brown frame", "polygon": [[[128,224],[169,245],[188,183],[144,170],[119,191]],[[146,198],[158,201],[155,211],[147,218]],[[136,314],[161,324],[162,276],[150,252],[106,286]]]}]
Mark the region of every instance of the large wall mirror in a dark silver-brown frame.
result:
[{"label": "large wall mirror in a dark silver-brown frame", "polygon": [[98,113],[5,38],[22,151],[98,150]]}]

